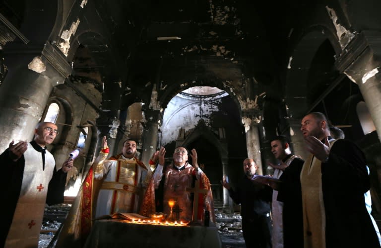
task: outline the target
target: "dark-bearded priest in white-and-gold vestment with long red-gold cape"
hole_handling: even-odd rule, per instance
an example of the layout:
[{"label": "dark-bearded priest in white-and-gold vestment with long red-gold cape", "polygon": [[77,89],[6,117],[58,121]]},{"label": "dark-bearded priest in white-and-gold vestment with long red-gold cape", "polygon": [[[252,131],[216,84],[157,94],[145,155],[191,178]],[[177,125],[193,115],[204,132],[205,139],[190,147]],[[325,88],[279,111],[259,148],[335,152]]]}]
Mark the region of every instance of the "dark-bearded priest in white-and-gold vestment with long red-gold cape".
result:
[{"label": "dark-bearded priest in white-and-gold vestment with long red-gold cape", "polygon": [[56,248],[82,247],[94,219],[102,215],[123,212],[149,216],[147,213],[153,213],[152,173],[135,157],[136,142],[126,140],[122,153],[106,160],[108,154],[105,136],[102,150],[84,178],[65,220]]}]

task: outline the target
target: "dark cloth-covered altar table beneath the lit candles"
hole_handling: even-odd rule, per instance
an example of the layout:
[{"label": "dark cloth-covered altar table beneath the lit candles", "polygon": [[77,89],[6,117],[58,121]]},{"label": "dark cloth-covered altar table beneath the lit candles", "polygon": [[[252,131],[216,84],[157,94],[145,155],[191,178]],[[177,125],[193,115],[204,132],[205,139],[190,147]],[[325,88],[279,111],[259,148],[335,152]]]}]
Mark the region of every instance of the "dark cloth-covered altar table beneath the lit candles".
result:
[{"label": "dark cloth-covered altar table beneath the lit candles", "polygon": [[136,224],[124,220],[97,220],[85,248],[221,248],[215,226]]}]

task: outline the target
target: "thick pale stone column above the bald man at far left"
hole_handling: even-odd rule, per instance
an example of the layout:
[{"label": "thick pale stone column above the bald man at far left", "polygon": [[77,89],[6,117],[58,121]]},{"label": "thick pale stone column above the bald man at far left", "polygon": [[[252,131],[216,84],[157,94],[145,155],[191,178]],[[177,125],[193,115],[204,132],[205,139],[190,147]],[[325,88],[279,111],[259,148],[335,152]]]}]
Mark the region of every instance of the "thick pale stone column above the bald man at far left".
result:
[{"label": "thick pale stone column above the bald man at far left", "polygon": [[0,87],[0,151],[11,140],[33,138],[53,87],[71,74],[61,51],[50,43],[40,52],[25,45],[5,46],[3,52],[8,74]]}]

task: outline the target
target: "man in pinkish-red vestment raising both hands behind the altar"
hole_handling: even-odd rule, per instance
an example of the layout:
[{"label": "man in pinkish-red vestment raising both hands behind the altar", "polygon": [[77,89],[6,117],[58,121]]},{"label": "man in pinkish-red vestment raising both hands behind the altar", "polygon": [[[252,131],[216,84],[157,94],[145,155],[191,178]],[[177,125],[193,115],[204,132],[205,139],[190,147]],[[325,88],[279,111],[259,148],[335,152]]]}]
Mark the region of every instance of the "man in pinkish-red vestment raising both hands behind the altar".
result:
[{"label": "man in pinkish-red vestment raising both hands behind the altar", "polygon": [[[210,182],[205,173],[197,164],[197,152],[191,150],[191,154],[185,147],[177,147],[173,153],[171,164],[164,166],[165,148],[161,147],[152,157],[152,161],[158,160],[158,165],[153,174],[155,186],[156,212],[170,214],[171,208],[168,205],[169,200],[175,200],[175,208],[178,208],[181,221],[192,220],[192,206],[194,196],[187,188],[199,187],[206,189],[205,195],[195,193],[198,197],[198,213],[194,219],[200,220],[203,209],[209,211],[210,218],[214,221],[213,197],[210,188]],[[188,163],[188,156],[191,156],[192,163]],[[199,182],[196,184],[196,182]]]}]

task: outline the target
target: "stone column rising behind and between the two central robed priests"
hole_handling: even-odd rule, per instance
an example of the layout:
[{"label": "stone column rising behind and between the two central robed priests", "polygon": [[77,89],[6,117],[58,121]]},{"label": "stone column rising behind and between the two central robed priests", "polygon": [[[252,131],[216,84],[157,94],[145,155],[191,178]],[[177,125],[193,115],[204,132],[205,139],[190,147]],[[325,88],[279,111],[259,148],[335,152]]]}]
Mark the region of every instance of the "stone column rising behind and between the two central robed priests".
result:
[{"label": "stone column rising behind and between the two central robed priests", "polygon": [[148,109],[144,111],[144,115],[146,128],[143,133],[141,161],[144,165],[148,165],[149,159],[157,150],[157,134],[159,122],[161,121],[161,113],[159,110]]}]

